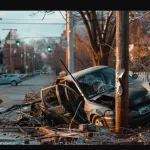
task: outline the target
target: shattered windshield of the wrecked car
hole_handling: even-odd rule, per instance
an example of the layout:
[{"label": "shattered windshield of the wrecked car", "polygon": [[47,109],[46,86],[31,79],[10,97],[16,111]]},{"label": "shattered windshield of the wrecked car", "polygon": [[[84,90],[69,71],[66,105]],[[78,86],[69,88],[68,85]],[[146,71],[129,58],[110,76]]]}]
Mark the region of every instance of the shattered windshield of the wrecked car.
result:
[{"label": "shattered windshield of the wrecked car", "polygon": [[96,70],[91,74],[81,77],[79,85],[83,93],[92,98],[115,87],[115,71],[113,68]]}]

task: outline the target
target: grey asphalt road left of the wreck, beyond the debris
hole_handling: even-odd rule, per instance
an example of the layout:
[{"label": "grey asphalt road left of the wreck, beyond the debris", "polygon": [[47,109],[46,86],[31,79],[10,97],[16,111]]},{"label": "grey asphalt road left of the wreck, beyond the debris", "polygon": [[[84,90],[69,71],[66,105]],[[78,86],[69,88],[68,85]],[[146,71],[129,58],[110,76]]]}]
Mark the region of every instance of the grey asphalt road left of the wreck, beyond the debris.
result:
[{"label": "grey asphalt road left of the wreck, beyond the debris", "polygon": [[25,94],[38,93],[40,88],[47,87],[53,81],[53,75],[37,75],[24,80],[18,86],[0,85],[0,99],[3,100],[0,106],[10,107],[19,104],[24,100]]}]

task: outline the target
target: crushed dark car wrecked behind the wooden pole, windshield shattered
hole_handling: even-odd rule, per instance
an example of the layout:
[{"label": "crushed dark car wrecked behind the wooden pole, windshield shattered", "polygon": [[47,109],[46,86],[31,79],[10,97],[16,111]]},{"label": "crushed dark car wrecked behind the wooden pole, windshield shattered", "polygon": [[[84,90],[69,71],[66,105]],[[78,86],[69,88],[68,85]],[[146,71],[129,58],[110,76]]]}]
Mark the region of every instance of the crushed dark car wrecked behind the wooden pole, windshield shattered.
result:
[{"label": "crushed dark car wrecked behind the wooden pole, windshield shattered", "polygon": [[[150,93],[141,81],[129,76],[129,125],[150,118]],[[115,70],[94,66],[56,79],[41,89],[49,122],[92,123],[115,126]]]}]

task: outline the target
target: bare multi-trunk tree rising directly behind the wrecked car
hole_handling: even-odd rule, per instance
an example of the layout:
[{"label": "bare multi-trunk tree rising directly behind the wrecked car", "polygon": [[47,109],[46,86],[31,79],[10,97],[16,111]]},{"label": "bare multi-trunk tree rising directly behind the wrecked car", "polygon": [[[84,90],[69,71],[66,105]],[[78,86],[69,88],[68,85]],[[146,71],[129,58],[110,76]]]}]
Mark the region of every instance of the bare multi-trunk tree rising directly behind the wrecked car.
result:
[{"label": "bare multi-trunk tree rising directly behind the wrecked car", "polygon": [[116,24],[113,11],[101,16],[99,24],[96,11],[79,11],[92,47],[94,65],[108,65],[111,45],[115,38]]}]

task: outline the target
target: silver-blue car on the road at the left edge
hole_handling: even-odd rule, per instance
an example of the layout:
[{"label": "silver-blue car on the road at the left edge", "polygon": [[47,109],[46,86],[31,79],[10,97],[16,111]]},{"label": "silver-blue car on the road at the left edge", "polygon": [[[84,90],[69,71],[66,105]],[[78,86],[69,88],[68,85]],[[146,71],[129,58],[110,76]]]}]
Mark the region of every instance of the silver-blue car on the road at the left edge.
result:
[{"label": "silver-blue car on the road at the left edge", "polygon": [[0,85],[2,84],[11,84],[12,86],[17,86],[18,83],[21,83],[22,79],[18,74],[2,74],[0,75]]}]

